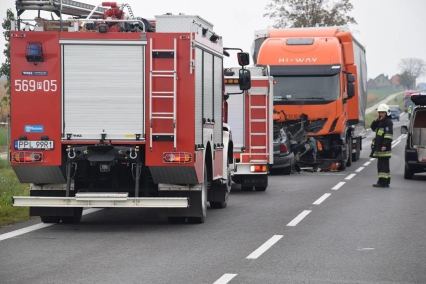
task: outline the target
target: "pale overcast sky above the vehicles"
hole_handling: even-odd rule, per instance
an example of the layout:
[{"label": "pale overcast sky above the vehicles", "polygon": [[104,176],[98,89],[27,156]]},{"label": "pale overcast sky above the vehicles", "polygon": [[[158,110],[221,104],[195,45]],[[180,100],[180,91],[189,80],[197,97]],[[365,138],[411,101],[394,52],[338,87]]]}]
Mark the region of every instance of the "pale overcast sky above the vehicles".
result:
[{"label": "pale overcast sky above the vehicles", "polygon": [[[79,0],[98,4],[98,0]],[[14,0],[1,0],[0,16],[6,9],[16,14]],[[264,8],[271,0],[215,0],[210,4],[193,0],[127,0],[135,16],[153,18],[154,15],[179,12],[197,14],[211,22],[213,30],[223,37],[223,46],[239,47],[250,51],[253,31],[264,29],[272,21],[263,17]],[[358,24],[351,25],[355,38],[366,48],[368,77],[384,73],[389,77],[398,73],[398,63],[404,57],[426,60],[425,0],[351,0],[353,10],[349,13]],[[199,3],[199,4],[196,4]],[[48,15],[48,14],[47,14]],[[21,18],[33,18],[33,11],[25,11]],[[1,30],[2,31],[2,30]],[[0,46],[4,38],[0,35]],[[3,48],[1,47],[1,50]],[[232,56],[233,55],[233,56]],[[226,58],[224,66],[237,66],[234,59]],[[0,55],[4,62],[4,56]],[[417,80],[426,81],[426,76]]]}]

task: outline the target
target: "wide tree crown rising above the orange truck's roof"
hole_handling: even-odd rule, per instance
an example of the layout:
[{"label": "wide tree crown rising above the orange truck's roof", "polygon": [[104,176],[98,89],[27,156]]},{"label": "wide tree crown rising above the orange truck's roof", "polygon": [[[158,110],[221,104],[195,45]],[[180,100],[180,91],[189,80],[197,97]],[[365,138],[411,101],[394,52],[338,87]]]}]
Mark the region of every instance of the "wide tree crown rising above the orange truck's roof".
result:
[{"label": "wide tree crown rising above the orange truck's roof", "polygon": [[274,28],[340,26],[356,24],[347,15],[352,8],[349,0],[271,0],[263,16],[273,19]]}]

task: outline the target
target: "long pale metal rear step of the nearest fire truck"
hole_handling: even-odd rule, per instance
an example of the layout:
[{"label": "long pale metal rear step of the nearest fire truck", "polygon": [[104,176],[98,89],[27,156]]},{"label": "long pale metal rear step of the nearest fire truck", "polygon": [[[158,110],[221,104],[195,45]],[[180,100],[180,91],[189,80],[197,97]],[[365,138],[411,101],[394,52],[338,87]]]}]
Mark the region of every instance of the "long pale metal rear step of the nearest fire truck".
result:
[{"label": "long pale metal rear step of the nearest fire truck", "polygon": [[186,208],[187,197],[128,197],[127,192],[79,192],[75,197],[13,196],[13,206]]}]

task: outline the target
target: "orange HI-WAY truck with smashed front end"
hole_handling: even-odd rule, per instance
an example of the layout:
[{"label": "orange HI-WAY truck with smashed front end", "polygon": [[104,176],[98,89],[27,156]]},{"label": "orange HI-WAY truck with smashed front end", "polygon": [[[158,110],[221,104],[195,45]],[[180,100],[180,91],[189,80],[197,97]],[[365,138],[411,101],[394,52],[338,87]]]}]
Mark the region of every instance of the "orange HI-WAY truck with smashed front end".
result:
[{"label": "orange HI-WAY truck with smashed front end", "polygon": [[256,65],[274,78],[274,123],[292,136],[300,166],[345,169],[365,136],[365,49],[339,27],[257,30]]}]

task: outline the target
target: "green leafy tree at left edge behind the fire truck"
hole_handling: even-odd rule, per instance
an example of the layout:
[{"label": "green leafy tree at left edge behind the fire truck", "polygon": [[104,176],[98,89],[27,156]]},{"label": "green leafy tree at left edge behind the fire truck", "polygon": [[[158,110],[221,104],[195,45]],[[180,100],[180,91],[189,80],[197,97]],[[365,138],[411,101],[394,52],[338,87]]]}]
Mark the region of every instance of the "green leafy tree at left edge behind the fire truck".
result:
[{"label": "green leafy tree at left edge behind the fire truck", "polygon": [[3,54],[5,56],[5,62],[1,63],[0,76],[6,76],[6,82],[4,88],[6,89],[6,96],[1,100],[8,103],[10,101],[10,21],[14,19],[14,14],[11,9],[7,9],[6,18],[3,19],[1,26],[3,27],[3,35],[6,39],[4,44],[5,48]]}]

